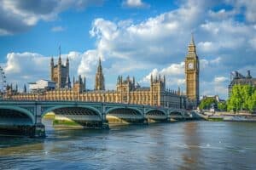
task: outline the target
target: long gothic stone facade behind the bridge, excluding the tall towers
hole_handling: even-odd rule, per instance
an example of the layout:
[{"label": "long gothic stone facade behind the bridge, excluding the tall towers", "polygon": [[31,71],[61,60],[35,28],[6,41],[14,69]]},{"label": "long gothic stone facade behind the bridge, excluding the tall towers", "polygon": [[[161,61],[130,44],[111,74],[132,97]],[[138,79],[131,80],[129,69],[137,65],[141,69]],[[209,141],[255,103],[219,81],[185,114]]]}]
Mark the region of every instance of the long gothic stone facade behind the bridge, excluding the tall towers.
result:
[{"label": "long gothic stone facade behind the bridge, excluding the tall towers", "polygon": [[84,90],[82,83],[77,82],[71,89],[59,88],[41,94],[20,93],[10,97],[17,100],[79,100],[185,108],[186,97],[179,91],[166,90],[164,79],[152,77],[149,88],[135,86],[133,80],[119,77],[116,90]]}]

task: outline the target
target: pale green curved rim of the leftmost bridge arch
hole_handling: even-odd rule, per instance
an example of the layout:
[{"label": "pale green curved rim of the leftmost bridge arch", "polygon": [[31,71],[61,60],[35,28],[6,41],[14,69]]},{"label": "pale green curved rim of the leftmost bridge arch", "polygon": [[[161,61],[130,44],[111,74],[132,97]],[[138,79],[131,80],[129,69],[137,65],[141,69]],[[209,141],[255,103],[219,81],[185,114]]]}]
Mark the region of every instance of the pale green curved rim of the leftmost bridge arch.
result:
[{"label": "pale green curved rim of the leftmost bridge arch", "polygon": [[24,108],[18,107],[18,106],[3,106],[0,105],[0,116],[4,113],[4,110],[6,111],[15,111],[15,114],[21,114],[23,116],[26,116],[30,121],[30,125],[35,124],[35,116],[32,114],[31,111],[28,111]]}]

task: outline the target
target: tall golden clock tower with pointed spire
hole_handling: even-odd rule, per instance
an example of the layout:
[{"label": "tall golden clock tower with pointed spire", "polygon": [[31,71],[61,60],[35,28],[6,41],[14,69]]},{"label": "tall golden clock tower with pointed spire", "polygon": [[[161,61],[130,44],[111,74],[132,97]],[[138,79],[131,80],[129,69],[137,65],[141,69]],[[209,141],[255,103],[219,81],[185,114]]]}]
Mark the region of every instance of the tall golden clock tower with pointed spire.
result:
[{"label": "tall golden clock tower with pointed spire", "polygon": [[199,103],[199,59],[196,54],[193,34],[185,59],[185,75],[187,97],[197,106]]}]

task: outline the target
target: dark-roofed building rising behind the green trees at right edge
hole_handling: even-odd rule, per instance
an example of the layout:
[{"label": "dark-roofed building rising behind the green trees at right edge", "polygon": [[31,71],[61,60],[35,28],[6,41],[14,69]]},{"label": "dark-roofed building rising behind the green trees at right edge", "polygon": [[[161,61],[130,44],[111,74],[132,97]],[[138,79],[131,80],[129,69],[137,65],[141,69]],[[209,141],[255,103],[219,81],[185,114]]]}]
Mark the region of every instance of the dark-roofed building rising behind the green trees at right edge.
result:
[{"label": "dark-roofed building rising behind the green trees at right edge", "polygon": [[234,71],[231,73],[231,82],[229,85],[229,98],[231,96],[231,91],[234,85],[250,85],[256,87],[256,78],[251,76],[251,72],[247,71],[247,76],[243,76],[238,71]]}]

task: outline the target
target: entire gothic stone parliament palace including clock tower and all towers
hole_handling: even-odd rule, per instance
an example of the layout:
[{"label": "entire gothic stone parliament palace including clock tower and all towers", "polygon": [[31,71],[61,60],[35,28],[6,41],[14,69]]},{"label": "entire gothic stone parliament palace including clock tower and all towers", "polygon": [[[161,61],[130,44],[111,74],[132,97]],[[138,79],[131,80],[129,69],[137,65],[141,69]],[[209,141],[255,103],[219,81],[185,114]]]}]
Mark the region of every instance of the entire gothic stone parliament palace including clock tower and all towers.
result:
[{"label": "entire gothic stone parliament palace including clock tower and all towers", "polygon": [[64,65],[61,54],[55,65],[54,59],[50,60],[50,81],[55,82],[54,89],[44,90],[38,93],[19,93],[12,88],[7,90],[5,98],[17,100],[77,100],[87,102],[110,102],[134,105],[164,106],[173,109],[187,109],[198,105],[199,101],[199,59],[195,50],[195,42],[192,36],[189,43],[188,54],[185,57],[186,94],[180,89],[170,90],[166,88],[166,77],[158,76],[150,78],[149,87],[141,87],[134,77],[119,76],[115,90],[105,89],[105,77],[102,69],[102,61],[99,59],[94,90],[86,88],[85,77],[73,78],[73,87],[69,77],[69,59]]}]

